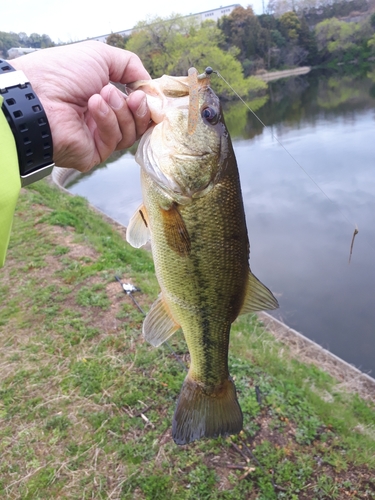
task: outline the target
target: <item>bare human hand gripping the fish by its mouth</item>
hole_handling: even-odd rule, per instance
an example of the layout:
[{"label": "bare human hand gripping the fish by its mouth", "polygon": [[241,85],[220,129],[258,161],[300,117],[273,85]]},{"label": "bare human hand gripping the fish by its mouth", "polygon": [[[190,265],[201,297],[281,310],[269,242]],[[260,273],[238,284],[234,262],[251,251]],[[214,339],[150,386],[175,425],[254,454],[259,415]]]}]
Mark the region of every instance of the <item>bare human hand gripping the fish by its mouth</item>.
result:
[{"label": "bare human hand gripping the fish by its mouth", "polygon": [[146,131],[150,111],[145,94],[136,91],[125,98],[109,83],[150,78],[132,52],[89,41],[11,62],[25,73],[43,104],[59,167],[88,171]]}]

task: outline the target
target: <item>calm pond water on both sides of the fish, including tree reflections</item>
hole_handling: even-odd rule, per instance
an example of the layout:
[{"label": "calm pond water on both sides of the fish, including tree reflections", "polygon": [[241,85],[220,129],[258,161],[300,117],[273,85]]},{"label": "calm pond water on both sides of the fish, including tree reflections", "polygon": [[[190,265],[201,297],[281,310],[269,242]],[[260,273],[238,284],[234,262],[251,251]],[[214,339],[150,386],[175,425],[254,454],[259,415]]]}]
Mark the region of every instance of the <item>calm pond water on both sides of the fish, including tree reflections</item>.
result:
[{"label": "calm pond water on both sides of the fish, including tree reflections", "polygon": [[[266,128],[239,103],[226,113],[251,269],[278,298],[275,317],[374,376],[375,71],[273,82],[257,114]],[[139,167],[127,152],[69,190],[127,225]]]}]

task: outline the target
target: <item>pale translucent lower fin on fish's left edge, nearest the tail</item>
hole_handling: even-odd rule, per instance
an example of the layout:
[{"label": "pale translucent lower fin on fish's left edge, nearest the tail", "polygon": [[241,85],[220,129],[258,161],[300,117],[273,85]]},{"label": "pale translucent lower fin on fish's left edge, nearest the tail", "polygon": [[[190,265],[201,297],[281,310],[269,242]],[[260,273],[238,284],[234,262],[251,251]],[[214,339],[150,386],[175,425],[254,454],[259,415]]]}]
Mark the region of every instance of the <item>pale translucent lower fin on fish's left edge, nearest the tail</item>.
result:
[{"label": "pale translucent lower fin on fish's left edge, nearest the tail", "polygon": [[180,325],[172,318],[163,296],[160,294],[152,304],[144,322],[143,335],[147,342],[154,347],[158,347],[173,335]]}]

